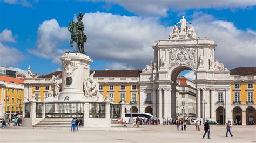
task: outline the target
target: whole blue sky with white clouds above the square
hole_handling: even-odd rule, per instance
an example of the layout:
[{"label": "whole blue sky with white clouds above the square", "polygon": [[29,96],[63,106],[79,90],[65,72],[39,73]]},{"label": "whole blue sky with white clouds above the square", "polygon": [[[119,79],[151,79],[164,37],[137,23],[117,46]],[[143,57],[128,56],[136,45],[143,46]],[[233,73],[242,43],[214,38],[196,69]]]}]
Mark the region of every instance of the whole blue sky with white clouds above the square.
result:
[{"label": "whole blue sky with white clouds above the square", "polygon": [[218,61],[225,67],[256,66],[256,2],[215,2],[219,4],[150,0],[146,4],[114,0],[1,1],[0,66],[25,70],[30,65],[38,74],[60,69],[59,56],[71,49],[65,30],[79,12],[85,15],[85,50],[94,60],[92,70],[143,69],[152,61],[154,41],[168,39],[171,26],[182,15],[194,24],[199,37],[215,39]]}]

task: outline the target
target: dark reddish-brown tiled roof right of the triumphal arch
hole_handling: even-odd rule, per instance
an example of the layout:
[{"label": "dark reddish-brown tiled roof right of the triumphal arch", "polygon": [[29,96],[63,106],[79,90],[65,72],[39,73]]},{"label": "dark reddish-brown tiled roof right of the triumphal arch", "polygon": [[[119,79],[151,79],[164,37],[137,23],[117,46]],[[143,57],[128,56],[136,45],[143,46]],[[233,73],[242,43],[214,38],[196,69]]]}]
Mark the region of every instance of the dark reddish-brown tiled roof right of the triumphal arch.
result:
[{"label": "dark reddish-brown tiled roof right of the triumphal arch", "polygon": [[256,75],[256,67],[237,67],[230,70],[230,75]]}]

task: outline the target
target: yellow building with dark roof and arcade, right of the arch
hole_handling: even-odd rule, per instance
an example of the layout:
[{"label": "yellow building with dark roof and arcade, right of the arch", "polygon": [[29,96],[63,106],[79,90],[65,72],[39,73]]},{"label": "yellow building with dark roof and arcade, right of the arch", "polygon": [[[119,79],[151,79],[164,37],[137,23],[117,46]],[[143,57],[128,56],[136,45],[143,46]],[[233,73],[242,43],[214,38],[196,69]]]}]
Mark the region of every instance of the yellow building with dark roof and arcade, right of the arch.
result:
[{"label": "yellow building with dark roof and arcade, right of the arch", "polygon": [[238,67],[230,70],[233,77],[231,84],[231,109],[233,120],[242,125],[256,120],[256,67]]}]

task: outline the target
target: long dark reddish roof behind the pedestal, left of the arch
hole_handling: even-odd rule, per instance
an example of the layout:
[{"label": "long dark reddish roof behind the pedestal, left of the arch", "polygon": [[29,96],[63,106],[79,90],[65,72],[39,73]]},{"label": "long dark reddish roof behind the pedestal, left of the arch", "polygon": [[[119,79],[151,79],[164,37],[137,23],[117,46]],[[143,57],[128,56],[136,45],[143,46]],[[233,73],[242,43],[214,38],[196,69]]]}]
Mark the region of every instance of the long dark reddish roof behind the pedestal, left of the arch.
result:
[{"label": "long dark reddish roof behind the pedestal, left of the arch", "polygon": [[[95,71],[95,75],[93,77],[140,77],[140,73],[142,73],[141,69],[133,69],[133,70],[91,70],[90,75]],[[62,71],[55,71],[53,73],[39,76],[38,78],[52,78],[53,75],[57,76]]]}]

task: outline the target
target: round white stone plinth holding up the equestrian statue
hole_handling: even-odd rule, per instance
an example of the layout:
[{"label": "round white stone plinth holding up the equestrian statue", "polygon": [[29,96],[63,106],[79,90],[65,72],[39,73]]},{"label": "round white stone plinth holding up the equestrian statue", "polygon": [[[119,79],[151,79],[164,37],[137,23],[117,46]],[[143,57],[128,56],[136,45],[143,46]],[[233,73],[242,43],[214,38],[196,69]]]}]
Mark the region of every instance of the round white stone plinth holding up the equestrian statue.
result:
[{"label": "round white stone plinth holding up the equestrian statue", "polygon": [[61,101],[84,101],[83,83],[90,76],[89,56],[80,53],[66,53],[62,60]]}]

